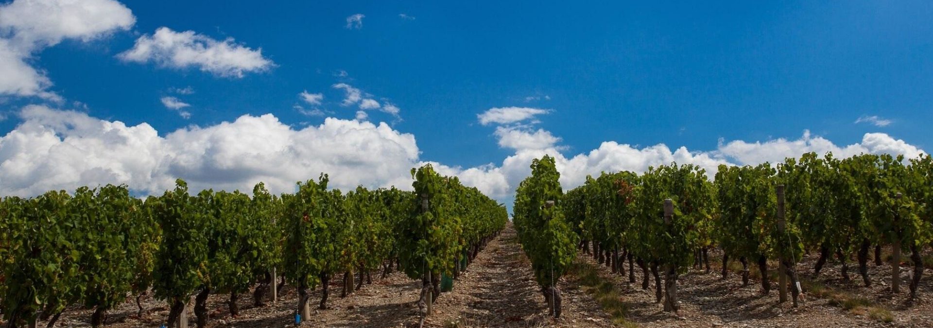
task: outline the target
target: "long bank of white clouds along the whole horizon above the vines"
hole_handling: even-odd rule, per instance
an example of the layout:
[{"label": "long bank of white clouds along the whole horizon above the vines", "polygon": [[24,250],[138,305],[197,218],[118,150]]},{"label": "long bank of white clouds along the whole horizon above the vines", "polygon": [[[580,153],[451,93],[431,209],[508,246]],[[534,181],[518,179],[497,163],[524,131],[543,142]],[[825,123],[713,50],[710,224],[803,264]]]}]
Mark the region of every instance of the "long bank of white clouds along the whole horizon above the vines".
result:
[{"label": "long bank of white clouds along the whole horizon above the vines", "polygon": [[[146,123],[128,127],[44,106],[27,106],[20,117],[21,124],[0,138],[0,181],[4,182],[0,194],[4,195],[35,196],[50,189],[107,183],[160,194],[177,177],[186,179],[195,191],[249,190],[262,181],[280,193],[293,192],[295,182],[314,178],[318,172],[329,173],[332,185],[341,189],[356,185],[410,189],[409,170],[425,163],[413,135],[365,119],[326,118],[319,126],[296,130],[271,114],[247,115],[213,126],[169,131],[162,137]],[[574,155],[564,155],[560,139],[547,130],[513,130],[497,136],[501,146],[514,151],[501,162],[473,168],[435,163],[436,168],[508,202],[530,173],[532,159],[546,154],[556,158],[564,188],[572,188],[583,184],[588,174],[642,172],[671,162],[696,164],[712,176],[719,164],[757,164],[810,151],[832,151],[837,157],[923,153],[885,133],[866,133],[859,143],[849,145],[804,133],[797,140],[719,143],[710,151],[609,141]]]}]

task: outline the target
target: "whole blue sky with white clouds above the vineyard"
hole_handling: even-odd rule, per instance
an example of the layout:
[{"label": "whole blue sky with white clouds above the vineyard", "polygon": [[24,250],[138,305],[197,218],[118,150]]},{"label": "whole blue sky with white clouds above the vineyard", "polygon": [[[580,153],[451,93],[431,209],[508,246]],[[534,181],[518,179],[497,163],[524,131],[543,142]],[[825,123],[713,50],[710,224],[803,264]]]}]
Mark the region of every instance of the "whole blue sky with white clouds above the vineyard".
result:
[{"label": "whole blue sky with white clouds above the vineyard", "polygon": [[[523,178],[520,169],[526,169],[526,162],[545,153],[562,154],[564,185],[573,186],[585,174],[639,171],[670,159],[714,168],[719,162],[752,164],[811,150],[916,155],[930,146],[933,24],[928,22],[933,21],[933,4],[924,1],[532,6],[485,1],[94,0],[86,6],[107,8],[103,14],[95,11],[103,16],[59,29],[2,20],[4,10],[16,17],[53,19],[80,16],[87,9],[60,3],[32,4],[57,11],[38,10],[42,7],[27,6],[25,0],[0,5],[0,40],[6,39],[12,49],[7,52],[14,54],[4,57],[0,48],[0,75],[6,68],[7,76],[13,76],[7,77],[6,89],[0,77],[0,111],[6,117],[0,121],[0,135],[7,135],[0,140],[0,179],[15,181],[10,183],[14,187],[0,188],[7,193],[111,182],[146,185],[139,189],[157,192],[166,184],[153,182],[159,179],[152,176],[186,174],[190,176],[182,177],[201,181],[202,187],[243,187],[275,174],[238,167],[244,164],[236,156],[212,157],[216,154],[205,151],[213,149],[210,143],[249,144],[217,138],[216,133],[201,142],[179,134],[174,145],[165,146],[172,151],[152,151],[152,162],[168,169],[160,169],[161,164],[132,169],[119,156],[84,148],[105,134],[90,130],[111,129],[96,123],[93,129],[69,128],[85,118],[120,121],[127,127],[146,124],[165,139],[163,144],[172,144],[168,135],[174,131],[211,134],[207,130],[227,127],[222,122],[244,115],[272,114],[281,125],[270,123],[270,129],[286,127],[290,133],[308,127],[326,130],[326,117],[356,124],[351,130],[357,131],[376,131],[385,122],[388,130],[375,138],[384,142],[404,135],[414,143],[401,143],[400,153],[383,147],[375,153],[329,154],[322,159],[327,165],[289,157],[296,160],[296,171],[276,178],[284,185],[301,174],[310,178],[327,169],[335,170],[332,175],[360,175],[353,168],[367,171],[369,160],[381,163],[405,153],[397,165],[381,172],[393,175],[389,172],[397,168],[437,162],[502,199]],[[359,19],[351,21],[353,17]],[[180,56],[173,51],[184,50],[181,43],[166,48],[162,57],[126,55],[161,28],[177,36],[175,41],[189,33],[188,45],[220,44],[239,49],[245,57],[231,60],[220,49],[179,62],[169,55]],[[22,63],[48,83],[17,87],[28,81],[17,80],[9,67],[22,68]],[[335,88],[341,84],[380,108],[363,110],[362,100],[349,102],[347,89]],[[302,100],[303,91],[319,94],[320,103]],[[167,108],[167,97],[188,106]],[[398,108],[396,115],[385,110],[387,104]],[[543,113],[480,124],[478,115],[510,107]],[[307,115],[315,109],[324,115]],[[367,117],[355,120],[361,110]],[[42,144],[41,154],[31,160],[17,159],[29,149],[10,145],[11,136],[32,128],[49,130],[59,140]],[[333,140],[315,135],[317,139],[285,138],[282,143],[379,147],[380,142],[360,133],[354,135],[356,143],[346,142],[355,137],[340,133],[330,135]],[[77,146],[83,157],[64,159],[67,152],[58,145],[70,142],[84,143]],[[207,145],[190,146],[199,143]],[[667,153],[657,146],[668,148]],[[682,146],[689,156],[674,154]],[[229,153],[218,152],[261,153],[223,149]],[[320,153],[314,149],[308,156]],[[183,160],[191,157],[183,154],[188,150],[207,155]],[[372,154],[385,158],[368,158]],[[578,155],[583,157],[575,160]],[[341,165],[350,169],[337,172]],[[59,178],[39,177],[38,167],[59,171],[53,174]],[[207,177],[220,169],[230,171]],[[146,170],[149,180],[140,181]],[[228,180],[236,183],[220,183]],[[342,187],[405,184],[395,175],[339,180]]]}]

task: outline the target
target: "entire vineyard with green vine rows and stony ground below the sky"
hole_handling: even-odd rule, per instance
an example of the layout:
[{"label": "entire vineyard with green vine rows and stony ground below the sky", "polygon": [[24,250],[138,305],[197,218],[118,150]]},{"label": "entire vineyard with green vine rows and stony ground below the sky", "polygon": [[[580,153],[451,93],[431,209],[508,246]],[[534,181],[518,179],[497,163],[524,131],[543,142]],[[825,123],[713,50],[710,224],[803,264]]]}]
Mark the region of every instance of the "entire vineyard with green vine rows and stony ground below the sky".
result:
[{"label": "entire vineyard with green vine rows and stony ground below the sky", "polygon": [[[721,290],[732,281],[735,288],[759,283],[759,302],[777,309],[804,307],[811,295],[859,307],[817,283],[827,267],[838,274],[830,282],[836,288],[880,294],[904,311],[928,308],[929,156],[810,153],[776,165],[722,165],[712,176],[672,163],[588,176],[566,192],[560,176],[553,157],[535,159],[516,190],[511,223],[504,206],[430,165],[412,169],[413,191],[342,192],[321,174],[282,195],[262,184],[252,194],[192,195],[178,180],[174,190],[145,199],[126,185],[3,198],[0,311],[10,328],[52,327],[83,308],[99,327],[128,302],[143,318],[142,300],[154,299],[166,309],[160,325],[187,327],[190,314],[208,327],[216,326],[218,297],[236,318],[241,297],[252,298],[250,313],[274,311],[282,303],[270,303],[288,291],[287,319],[259,326],[336,324],[321,323],[332,313],[319,314],[335,298],[342,313],[355,313],[346,326],[471,326],[445,314],[457,307],[453,313],[482,321],[475,326],[527,326],[536,313],[550,318],[536,319],[539,325],[602,326],[593,317],[629,325],[636,315],[696,312],[697,294],[715,294],[688,284],[698,280]],[[470,267],[480,258],[480,267]],[[464,287],[452,292],[453,281]],[[364,303],[347,305],[358,291],[369,291],[353,301]],[[619,294],[608,302],[592,295],[606,291]],[[611,308],[642,292],[644,304]],[[365,302],[391,309],[355,310]],[[879,311],[871,315],[877,321],[893,321],[886,308],[870,310]],[[642,322],[670,325],[664,318]]]}]

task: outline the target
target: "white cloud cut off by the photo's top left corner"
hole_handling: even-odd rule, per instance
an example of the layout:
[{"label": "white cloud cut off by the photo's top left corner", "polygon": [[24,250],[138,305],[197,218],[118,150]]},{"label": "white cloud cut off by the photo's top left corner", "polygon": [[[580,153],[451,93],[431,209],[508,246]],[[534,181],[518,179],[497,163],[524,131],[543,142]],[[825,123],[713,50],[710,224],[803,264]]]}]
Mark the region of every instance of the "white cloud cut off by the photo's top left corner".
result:
[{"label": "white cloud cut off by the photo's top left corner", "polygon": [[16,0],[0,5],[0,95],[61,102],[45,71],[29,62],[64,39],[90,42],[129,30],[136,18],[113,0]]}]

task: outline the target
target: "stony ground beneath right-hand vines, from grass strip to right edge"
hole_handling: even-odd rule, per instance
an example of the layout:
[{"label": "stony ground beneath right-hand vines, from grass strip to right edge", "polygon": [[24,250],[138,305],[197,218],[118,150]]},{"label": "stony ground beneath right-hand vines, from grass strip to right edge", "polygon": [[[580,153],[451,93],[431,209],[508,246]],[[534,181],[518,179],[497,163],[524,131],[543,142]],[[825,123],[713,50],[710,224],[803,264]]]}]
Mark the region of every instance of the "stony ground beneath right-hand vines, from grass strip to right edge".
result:
[{"label": "stony ground beneath right-hand vines, from grass strip to right edge", "polygon": [[[721,254],[710,254],[719,258]],[[581,258],[591,264],[595,261],[590,256]],[[622,298],[628,306],[628,321],[639,327],[933,327],[933,307],[930,295],[933,295],[930,276],[933,270],[927,269],[925,279],[919,288],[919,299],[908,304],[907,267],[901,268],[901,293],[890,293],[890,268],[870,265],[870,275],[875,281],[870,288],[862,287],[861,277],[857,275],[857,263],[849,263],[851,281],[843,281],[837,263],[828,263],[820,275],[813,275],[814,258],[805,258],[797,268],[801,279],[819,283],[862,298],[871,303],[871,307],[884,308],[893,317],[893,321],[884,322],[873,319],[868,308],[847,310],[835,304],[828,296],[807,293],[801,296],[798,308],[791,308],[788,301],[778,303],[777,282],[772,281],[770,294],[762,294],[760,280],[751,280],[743,286],[742,277],[737,272],[730,272],[726,280],[720,274],[721,263],[711,261],[713,272],[705,273],[694,268],[686,275],[681,275],[678,282],[678,295],[681,309],[677,314],[661,311],[661,304],[655,303],[654,282],[648,290],[641,289],[642,271],[635,266],[637,282],[628,282],[625,277],[611,273],[608,267],[600,271],[607,279],[615,280],[620,286]],[[627,266],[627,263],[626,263]],[[734,265],[733,265],[734,266]],[[750,269],[757,270],[758,267]],[[772,269],[776,269],[772,265]],[[627,269],[627,267],[626,267]],[[788,294],[788,298],[789,298]]]}]

